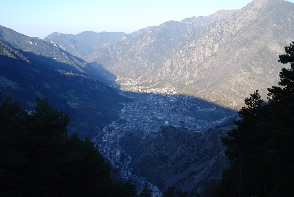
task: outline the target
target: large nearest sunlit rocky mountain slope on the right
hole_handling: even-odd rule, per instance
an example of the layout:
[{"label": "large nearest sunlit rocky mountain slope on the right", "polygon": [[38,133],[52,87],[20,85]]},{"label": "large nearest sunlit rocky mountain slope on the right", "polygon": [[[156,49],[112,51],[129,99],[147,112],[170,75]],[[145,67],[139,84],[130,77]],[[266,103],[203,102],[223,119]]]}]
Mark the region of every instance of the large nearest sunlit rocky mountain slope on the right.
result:
[{"label": "large nearest sunlit rocky mountain slope on the right", "polygon": [[162,59],[154,81],[223,106],[240,106],[256,89],[266,98],[284,67],[278,56],[294,38],[293,9],[287,1],[252,1],[180,43]]}]

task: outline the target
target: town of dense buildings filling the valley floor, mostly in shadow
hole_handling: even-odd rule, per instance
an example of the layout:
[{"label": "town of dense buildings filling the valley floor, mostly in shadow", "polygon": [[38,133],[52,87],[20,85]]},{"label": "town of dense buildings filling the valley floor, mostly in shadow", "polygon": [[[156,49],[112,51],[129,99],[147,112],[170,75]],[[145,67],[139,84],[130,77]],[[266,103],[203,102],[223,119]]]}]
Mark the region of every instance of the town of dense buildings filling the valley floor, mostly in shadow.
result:
[{"label": "town of dense buildings filling the valley floor, mostly in shadow", "polygon": [[[131,180],[136,186],[138,194],[141,192],[143,185],[148,184],[152,196],[161,196],[162,193],[159,189],[154,184],[147,182],[146,178],[131,174],[132,169],[129,169],[128,166],[132,158],[119,145],[120,139],[126,132],[132,130],[158,132],[161,125],[186,127],[201,132],[223,123],[226,114],[222,108],[203,103],[197,98],[176,95],[176,89],[173,87],[143,90],[138,86],[141,81],[123,78],[117,78],[117,81],[120,81],[121,85],[133,86],[138,91],[134,92],[133,89],[131,91],[118,91],[119,94],[132,98],[134,102],[122,103],[124,107],[117,115],[118,120],[111,122],[99,132],[97,135],[100,142],[98,145],[99,151],[115,168],[120,170],[121,177]],[[212,113],[220,113],[223,114],[223,117],[211,121],[212,118],[210,120],[201,116],[195,118],[195,113],[202,113],[206,116]]]}]

